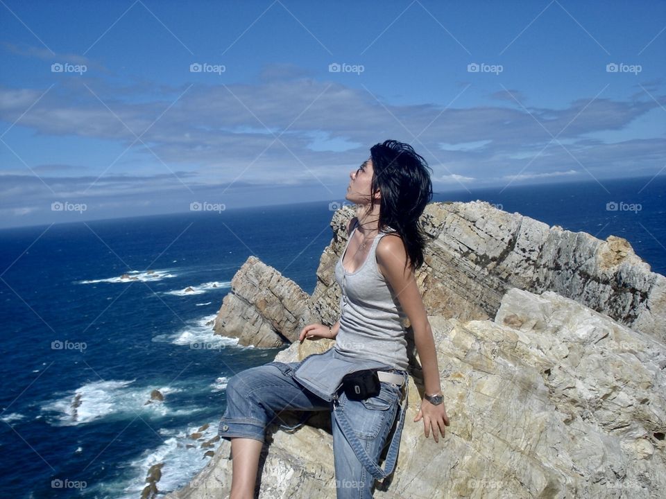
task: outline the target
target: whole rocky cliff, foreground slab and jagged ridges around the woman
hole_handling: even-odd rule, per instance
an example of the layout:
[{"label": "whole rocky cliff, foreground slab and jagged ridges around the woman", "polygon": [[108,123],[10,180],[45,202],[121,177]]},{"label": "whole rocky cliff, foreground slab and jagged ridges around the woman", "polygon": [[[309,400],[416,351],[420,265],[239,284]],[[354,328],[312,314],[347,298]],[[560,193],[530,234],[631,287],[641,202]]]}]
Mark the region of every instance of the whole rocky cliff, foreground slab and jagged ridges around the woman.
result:
[{"label": "whole rocky cliff, foreground slab and jagged ridges around the woman", "polygon": [[[216,331],[257,345],[332,324],[333,265],[352,216],[334,214],[312,297],[257,259],[232,281]],[[422,393],[410,363],[409,410],[398,466],[378,498],[659,497],[666,486],[666,279],[626,240],[494,209],[433,203],[417,279],[435,336],[451,426],[439,444],[413,423]],[[276,360],[333,342],[291,344]],[[287,433],[269,430],[260,498],[335,497],[328,414]],[[221,498],[230,444],[171,498]]]}]

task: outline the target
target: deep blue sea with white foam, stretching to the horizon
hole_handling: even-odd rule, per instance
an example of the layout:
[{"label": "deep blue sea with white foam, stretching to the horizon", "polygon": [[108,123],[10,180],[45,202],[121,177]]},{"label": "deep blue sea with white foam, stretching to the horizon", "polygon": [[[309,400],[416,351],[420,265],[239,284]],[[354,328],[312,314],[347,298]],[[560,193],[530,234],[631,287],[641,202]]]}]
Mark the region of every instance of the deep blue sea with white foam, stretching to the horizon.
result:
[{"label": "deep blue sea with white foam, stretching to the horizon", "polygon": [[[548,225],[626,238],[666,273],[666,175],[443,191]],[[160,495],[210,457],[235,373],[280,349],[214,335],[254,255],[311,293],[336,202],[0,231],[0,497]],[[151,400],[159,390],[163,400]],[[159,399],[160,397],[157,397]],[[193,435],[198,433],[200,435]]]}]

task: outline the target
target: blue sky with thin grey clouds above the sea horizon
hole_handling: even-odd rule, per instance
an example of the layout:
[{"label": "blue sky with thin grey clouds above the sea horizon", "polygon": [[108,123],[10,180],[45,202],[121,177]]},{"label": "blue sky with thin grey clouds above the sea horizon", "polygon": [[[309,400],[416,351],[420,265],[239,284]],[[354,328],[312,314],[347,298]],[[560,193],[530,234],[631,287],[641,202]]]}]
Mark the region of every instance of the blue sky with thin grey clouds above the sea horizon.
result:
[{"label": "blue sky with thin grey clouds above the sea horizon", "polygon": [[0,227],[341,202],[385,139],[438,192],[666,172],[663,1],[0,0],[0,26]]}]

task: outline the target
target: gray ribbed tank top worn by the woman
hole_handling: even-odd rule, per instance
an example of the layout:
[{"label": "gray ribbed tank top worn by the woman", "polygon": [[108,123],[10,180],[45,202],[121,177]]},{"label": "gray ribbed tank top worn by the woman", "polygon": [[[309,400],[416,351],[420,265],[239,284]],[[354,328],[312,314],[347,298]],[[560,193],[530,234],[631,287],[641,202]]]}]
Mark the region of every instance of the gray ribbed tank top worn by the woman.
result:
[{"label": "gray ribbed tank top worn by the woman", "polygon": [[376,360],[393,369],[407,370],[407,340],[402,325],[405,314],[393,288],[379,272],[375,256],[379,240],[393,229],[380,231],[363,264],[355,272],[348,272],[342,261],[356,229],[355,226],[335,265],[335,280],[342,290],[335,349],[343,356]]}]

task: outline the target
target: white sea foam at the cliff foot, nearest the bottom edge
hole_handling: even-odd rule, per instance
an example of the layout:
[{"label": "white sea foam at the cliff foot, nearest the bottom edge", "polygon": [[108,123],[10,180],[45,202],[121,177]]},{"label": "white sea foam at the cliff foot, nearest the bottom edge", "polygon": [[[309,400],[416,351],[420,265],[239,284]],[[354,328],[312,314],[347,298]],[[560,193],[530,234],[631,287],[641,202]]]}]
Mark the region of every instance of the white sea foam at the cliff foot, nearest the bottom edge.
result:
[{"label": "white sea foam at the cliff foot, nearest the bottom edge", "polygon": [[[208,423],[208,428],[200,432],[202,435],[198,439],[192,439],[190,436],[197,432],[200,426],[187,426],[181,430],[159,430],[160,435],[167,439],[164,444],[157,448],[148,449],[142,455],[129,463],[133,469],[133,477],[129,484],[123,488],[124,498],[135,499],[146,487],[146,475],[151,466],[164,463],[162,466],[162,478],[157,482],[157,489],[160,491],[173,491],[183,487],[191,478],[198,473],[205,465],[204,453],[207,450],[216,451],[220,441],[216,441],[209,448],[201,448],[201,444],[217,435],[219,421]],[[190,446],[189,448],[187,446]]]}]

